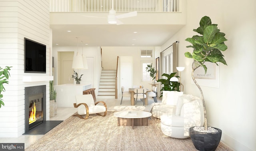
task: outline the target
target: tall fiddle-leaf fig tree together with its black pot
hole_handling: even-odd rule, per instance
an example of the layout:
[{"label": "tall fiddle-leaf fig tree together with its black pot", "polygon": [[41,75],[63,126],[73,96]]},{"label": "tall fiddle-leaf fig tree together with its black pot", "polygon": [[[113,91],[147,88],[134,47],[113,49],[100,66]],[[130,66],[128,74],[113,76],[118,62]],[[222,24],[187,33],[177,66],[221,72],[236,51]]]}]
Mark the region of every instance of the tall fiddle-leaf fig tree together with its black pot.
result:
[{"label": "tall fiddle-leaf fig tree together with its black pot", "polygon": [[[200,27],[194,29],[193,31],[200,34],[200,36],[195,35],[192,38],[186,39],[186,41],[192,44],[192,46],[187,46],[187,48],[193,48],[193,52],[192,54],[190,52],[186,52],[185,56],[193,59],[191,76],[201,93],[204,107],[204,127],[190,127],[190,136],[196,149],[205,151],[215,150],[220,142],[222,131],[217,128],[208,127],[207,125],[204,95],[200,85],[197,83],[194,77],[194,71],[202,67],[204,68],[204,72],[206,74],[207,67],[204,64],[205,62],[212,62],[217,66],[217,62],[227,65],[223,58],[224,56],[221,53],[228,48],[224,44],[227,39],[224,37],[225,34],[220,32],[220,30],[217,28],[217,24],[212,24],[212,21],[208,16],[202,17],[200,20]],[[198,65],[196,66],[195,64]],[[196,129],[200,128],[202,132],[196,131]]]}]

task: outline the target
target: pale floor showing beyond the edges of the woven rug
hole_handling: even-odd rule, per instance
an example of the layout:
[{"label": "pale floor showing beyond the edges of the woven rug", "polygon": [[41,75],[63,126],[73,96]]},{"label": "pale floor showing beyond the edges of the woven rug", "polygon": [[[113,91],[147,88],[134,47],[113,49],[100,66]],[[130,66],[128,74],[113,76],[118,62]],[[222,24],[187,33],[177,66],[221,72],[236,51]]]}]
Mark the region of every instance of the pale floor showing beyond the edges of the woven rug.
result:
[{"label": "pale floor showing beyond the edges of the woven rug", "polygon": [[[107,104],[108,111],[120,111],[120,110],[148,110],[150,104],[154,103],[152,98],[148,99],[148,105],[146,108],[142,105],[142,102],[138,102],[138,106],[131,106],[130,99],[123,99],[122,105],[120,105],[120,99],[97,99],[97,101],[104,101]],[[158,100],[159,102],[160,100]],[[57,115],[50,117],[50,120],[65,120],[74,113],[77,109],[74,107],[58,107]],[[0,138],[0,143],[25,143],[25,149],[36,140],[40,139],[43,135],[21,135],[20,137],[15,138]]]}]

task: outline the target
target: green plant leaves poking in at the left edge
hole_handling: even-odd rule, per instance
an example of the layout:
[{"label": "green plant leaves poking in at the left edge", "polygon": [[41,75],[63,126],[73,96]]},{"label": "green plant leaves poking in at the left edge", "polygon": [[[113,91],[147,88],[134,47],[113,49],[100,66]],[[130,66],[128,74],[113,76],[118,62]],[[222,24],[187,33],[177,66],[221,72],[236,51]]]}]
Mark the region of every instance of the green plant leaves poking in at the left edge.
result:
[{"label": "green plant leaves poking in at the left edge", "polygon": [[1,68],[0,67],[0,108],[2,107],[2,105],[4,105],[4,100],[2,99],[3,95],[2,95],[2,92],[5,91],[5,88],[4,88],[4,83],[8,84],[9,81],[9,76],[10,76],[10,73],[9,73],[9,70],[11,70],[10,68],[12,67],[8,67],[6,66],[5,68]]}]

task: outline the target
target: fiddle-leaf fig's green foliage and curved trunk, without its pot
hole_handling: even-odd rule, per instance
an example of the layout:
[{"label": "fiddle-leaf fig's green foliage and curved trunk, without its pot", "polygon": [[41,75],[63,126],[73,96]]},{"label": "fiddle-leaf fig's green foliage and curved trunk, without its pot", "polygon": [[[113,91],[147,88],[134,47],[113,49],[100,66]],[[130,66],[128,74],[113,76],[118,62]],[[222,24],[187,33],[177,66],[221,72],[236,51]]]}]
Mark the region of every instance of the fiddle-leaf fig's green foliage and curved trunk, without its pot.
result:
[{"label": "fiddle-leaf fig's green foliage and curved trunk, without its pot", "polygon": [[202,93],[202,89],[200,85],[197,83],[194,77],[194,71],[199,67],[204,68],[204,72],[206,74],[207,67],[204,64],[205,62],[215,63],[217,66],[217,62],[221,62],[224,65],[226,61],[224,60],[224,56],[222,55],[222,51],[225,51],[228,47],[224,44],[227,39],[224,37],[225,34],[220,32],[217,28],[217,24],[212,24],[211,19],[208,16],[204,16],[200,20],[200,27],[194,29],[194,32],[197,32],[199,35],[195,35],[192,38],[187,38],[186,41],[190,42],[191,46],[186,46],[187,48],[193,48],[192,54],[190,52],[186,52],[185,56],[187,58],[192,58],[192,79],[198,89],[200,90],[203,107],[204,107],[204,129],[207,131],[207,116],[206,116],[206,107],[204,102],[204,95]]}]

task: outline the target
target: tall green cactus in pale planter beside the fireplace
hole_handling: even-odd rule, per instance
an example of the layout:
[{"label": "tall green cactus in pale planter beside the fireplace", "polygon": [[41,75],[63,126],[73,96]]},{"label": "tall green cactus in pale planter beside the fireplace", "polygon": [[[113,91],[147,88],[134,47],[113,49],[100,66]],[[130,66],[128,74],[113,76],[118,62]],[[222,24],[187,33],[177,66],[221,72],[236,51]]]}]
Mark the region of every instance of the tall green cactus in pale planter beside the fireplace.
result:
[{"label": "tall green cactus in pale planter beside the fireplace", "polygon": [[50,117],[54,117],[57,114],[57,92],[54,89],[53,80],[50,81]]}]

